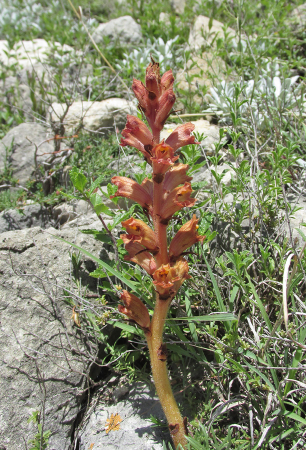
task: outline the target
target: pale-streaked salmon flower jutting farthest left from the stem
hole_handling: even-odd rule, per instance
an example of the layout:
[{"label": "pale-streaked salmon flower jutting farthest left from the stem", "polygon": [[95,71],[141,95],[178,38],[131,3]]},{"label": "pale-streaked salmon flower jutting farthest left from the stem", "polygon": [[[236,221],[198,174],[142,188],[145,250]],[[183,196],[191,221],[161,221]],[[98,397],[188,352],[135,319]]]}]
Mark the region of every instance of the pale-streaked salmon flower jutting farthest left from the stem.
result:
[{"label": "pale-streaked salmon flower jutting farthest left from the stem", "polygon": [[118,186],[118,189],[113,195],[110,195],[109,198],[117,196],[126,197],[136,201],[143,208],[148,210],[152,208],[152,197],[147,190],[136,183],[136,181],[127,178],[126,176],[113,176],[111,182]]}]

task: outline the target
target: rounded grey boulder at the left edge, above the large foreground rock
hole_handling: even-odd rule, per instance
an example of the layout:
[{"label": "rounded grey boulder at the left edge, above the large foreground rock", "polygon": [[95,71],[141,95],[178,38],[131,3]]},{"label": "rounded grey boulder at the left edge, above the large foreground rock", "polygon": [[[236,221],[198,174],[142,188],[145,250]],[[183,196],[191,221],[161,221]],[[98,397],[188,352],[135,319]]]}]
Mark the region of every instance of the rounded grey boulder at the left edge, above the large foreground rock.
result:
[{"label": "rounded grey boulder at the left edge, above the large foreground rock", "polygon": [[47,141],[43,125],[20,123],[11,128],[0,141],[0,170],[4,169],[4,164],[11,164],[13,176],[24,186],[35,170],[35,152],[39,165],[43,164],[53,151],[53,145]]}]

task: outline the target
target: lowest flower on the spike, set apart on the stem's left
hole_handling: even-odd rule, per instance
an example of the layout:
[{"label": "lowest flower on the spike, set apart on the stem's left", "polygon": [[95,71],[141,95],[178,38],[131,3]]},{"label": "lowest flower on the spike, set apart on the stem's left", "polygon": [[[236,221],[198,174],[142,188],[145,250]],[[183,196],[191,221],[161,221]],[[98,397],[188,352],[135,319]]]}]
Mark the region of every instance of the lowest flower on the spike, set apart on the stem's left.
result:
[{"label": "lowest flower on the spike, set apart on the stem's left", "polygon": [[141,328],[149,328],[150,316],[140,298],[123,289],[121,293],[121,300],[123,301],[125,307],[119,304],[119,312],[134,320],[139,326],[141,326]]}]

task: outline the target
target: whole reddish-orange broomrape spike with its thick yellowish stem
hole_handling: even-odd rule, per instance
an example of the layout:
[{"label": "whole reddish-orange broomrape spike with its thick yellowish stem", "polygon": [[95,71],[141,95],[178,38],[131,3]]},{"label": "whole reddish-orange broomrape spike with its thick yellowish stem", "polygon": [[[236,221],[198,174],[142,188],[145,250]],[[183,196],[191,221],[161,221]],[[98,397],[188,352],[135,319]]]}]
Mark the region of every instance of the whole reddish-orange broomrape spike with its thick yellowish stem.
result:
[{"label": "whole reddish-orange broomrape spike with its thick yellowish stem", "polygon": [[136,201],[148,217],[149,225],[130,217],[121,222],[126,234],[121,234],[128,255],[126,260],[139,264],[152,277],[155,292],[155,308],[152,317],[146,306],[133,293],[122,291],[119,311],[134,320],[144,331],[150,354],[156,391],[166,415],[175,448],[186,446],[186,419],[183,419],[174,399],[166,367],[167,350],[162,341],[167,311],[183,281],[188,275],[188,263],[183,254],[204,236],[197,232],[197,218],[181,226],[168,245],[167,226],[173,214],[185,206],[192,206],[191,177],[186,174],[188,165],[178,162],[176,150],[187,144],[198,143],[191,135],[194,125],[185,123],[160,141],[160,131],[172,109],[175,94],[174,77],[166,71],[161,77],[159,64],[153,59],[146,68],[145,85],[133,79],[132,90],[138,107],[145,115],[149,128],[137,117],[127,115],[122,131],[121,145],[139,150],[152,167],[152,177],[141,184],[124,177],[112,177],[118,189],[114,196]]}]

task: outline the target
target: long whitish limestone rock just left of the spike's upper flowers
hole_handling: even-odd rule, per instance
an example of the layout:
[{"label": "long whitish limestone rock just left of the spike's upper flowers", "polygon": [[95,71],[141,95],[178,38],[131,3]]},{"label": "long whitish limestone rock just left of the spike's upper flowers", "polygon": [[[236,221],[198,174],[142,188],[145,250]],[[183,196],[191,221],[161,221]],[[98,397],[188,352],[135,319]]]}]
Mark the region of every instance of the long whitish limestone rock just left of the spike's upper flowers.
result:
[{"label": "long whitish limestone rock just left of the spike's upper flowers", "polygon": [[[63,115],[66,105],[52,103],[50,108],[51,121],[56,124]],[[124,98],[107,98],[102,101],[74,101],[66,113],[63,124],[66,133],[73,133],[82,126],[87,131],[105,130],[116,126],[123,129],[126,114],[136,114],[134,103]]]}]

